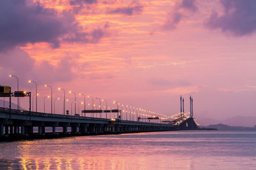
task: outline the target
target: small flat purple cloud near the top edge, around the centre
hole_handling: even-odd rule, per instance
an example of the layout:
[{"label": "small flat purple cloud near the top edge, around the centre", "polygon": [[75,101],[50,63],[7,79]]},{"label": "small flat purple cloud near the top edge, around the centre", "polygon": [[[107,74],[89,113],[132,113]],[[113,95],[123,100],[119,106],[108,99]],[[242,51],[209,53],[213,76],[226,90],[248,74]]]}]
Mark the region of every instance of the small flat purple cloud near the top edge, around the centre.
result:
[{"label": "small flat purple cloud near the top edge, around the centre", "polygon": [[138,3],[131,3],[129,6],[119,7],[109,10],[107,13],[109,14],[122,14],[122,15],[134,15],[140,14],[143,10],[143,6]]}]

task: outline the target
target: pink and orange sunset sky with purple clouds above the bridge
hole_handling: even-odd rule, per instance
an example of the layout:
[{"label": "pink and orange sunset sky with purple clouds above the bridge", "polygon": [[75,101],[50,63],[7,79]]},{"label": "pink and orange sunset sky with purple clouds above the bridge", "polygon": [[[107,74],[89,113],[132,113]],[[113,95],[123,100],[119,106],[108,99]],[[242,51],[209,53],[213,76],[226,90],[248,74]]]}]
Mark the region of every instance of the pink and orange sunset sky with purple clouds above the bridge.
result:
[{"label": "pink and orange sunset sky with purple clouds above the bridge", "polygon": [[[165,115],[219,120],[256,114],[254,0],[2,0],[0,85],[114,100]],[[74,94],[67,93],[67,109]],[[99,100],[95,105],[99,105]],[[16,99],[13,99],[16,102]],[[28,99],[20,101],[28,108]],[[86,98],[86,104],[92,99]],[[51,110],[46,101],[47,112]],[[104,103],[105,104],[105,103]],[[103,104],[102,104],[103,105]],[[89,106],[88,106],[89,107]]]}]

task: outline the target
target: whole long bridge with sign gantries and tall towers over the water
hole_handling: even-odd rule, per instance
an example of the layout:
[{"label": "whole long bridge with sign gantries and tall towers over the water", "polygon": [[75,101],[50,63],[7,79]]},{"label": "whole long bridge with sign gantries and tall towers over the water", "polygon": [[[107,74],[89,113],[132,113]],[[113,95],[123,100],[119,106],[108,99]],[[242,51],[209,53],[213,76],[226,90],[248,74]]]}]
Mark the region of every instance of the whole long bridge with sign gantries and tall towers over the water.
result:
[{"label": "whole long bridge with sign gantries and tall towers over the water", "polygon": [[[121,105],[122,110],[120,110],[118,108],[120,103],[116,103],[116,101],[114,103],[117,104],[117,109],[108,110],[106,107],[106,110],[83,110],[81,115],[76,114],[75,109],[74,115],[70,115],[68,111],[63,114],[52,114],[52,111],[51,113],[31,111],[31,92],[11,92],[10,87],[1,87],[0,97],[9,97],[10,100],[9,108],[0,108],[0,139],[55,138],[198,129],[198,124],[193,118],[193,99],[191,97],[189,113],[184,113],[184,98],[182,100],[180,96],[180,113],[166,116],[150,112],[152,113],[150,115],[131,112],[130,108],[130,118],[127,118],[127,110],[123,110],[123,104]],[[19,107],[17,110],[12,109],[12,97],[29,97],[29,110],[19,110]],[[136,111],[145,110],[137,109]],[[106,114],[106,118],[101,117],[103,113]],[[93,115],[100,116],[94,117]]]}]

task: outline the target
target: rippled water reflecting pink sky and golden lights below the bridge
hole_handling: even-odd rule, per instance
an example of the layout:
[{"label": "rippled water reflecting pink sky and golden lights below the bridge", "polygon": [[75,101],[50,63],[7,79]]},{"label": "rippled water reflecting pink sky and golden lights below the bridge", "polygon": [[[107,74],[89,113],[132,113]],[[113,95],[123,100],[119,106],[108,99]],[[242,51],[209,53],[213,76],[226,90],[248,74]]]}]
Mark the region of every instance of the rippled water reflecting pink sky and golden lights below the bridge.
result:
[{"label": "rippled water reflecting pink sky and golden lights below the bridge", "polygon": [[0,169],[256,169],[256,132],[169,131],[0,143]]}]

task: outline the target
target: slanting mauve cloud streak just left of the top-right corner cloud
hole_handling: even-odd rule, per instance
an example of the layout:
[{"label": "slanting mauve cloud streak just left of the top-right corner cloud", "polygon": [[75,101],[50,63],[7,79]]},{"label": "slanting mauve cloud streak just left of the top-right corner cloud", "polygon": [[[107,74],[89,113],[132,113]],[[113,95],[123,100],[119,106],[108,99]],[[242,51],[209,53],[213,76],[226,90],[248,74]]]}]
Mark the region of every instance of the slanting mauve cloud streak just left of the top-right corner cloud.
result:
[{"label": "slanting mauve cloud streak just left of the top-right corner cloud", "polygon": [[174,10],[168,14],[166,22],[162,28],[164,31],[171,31],[177,28],[180,20],[184,18],[187,13],[195,13],[198,11],[196,0],[182,0],[175,4]]}]

